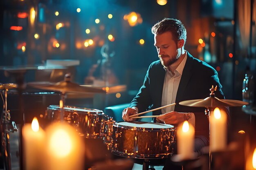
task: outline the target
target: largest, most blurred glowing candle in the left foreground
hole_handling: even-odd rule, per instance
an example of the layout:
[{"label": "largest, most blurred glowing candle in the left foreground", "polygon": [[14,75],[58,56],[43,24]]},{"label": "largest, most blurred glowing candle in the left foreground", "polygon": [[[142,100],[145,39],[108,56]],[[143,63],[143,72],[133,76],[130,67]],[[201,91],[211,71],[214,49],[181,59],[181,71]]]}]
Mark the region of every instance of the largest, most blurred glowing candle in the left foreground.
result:
[{"label": "largest, most blurred glowing candle in the left foreground", "polygon": [[69,124],[52,124],[46,130],[47,170],[83,170],[84,143]]}]

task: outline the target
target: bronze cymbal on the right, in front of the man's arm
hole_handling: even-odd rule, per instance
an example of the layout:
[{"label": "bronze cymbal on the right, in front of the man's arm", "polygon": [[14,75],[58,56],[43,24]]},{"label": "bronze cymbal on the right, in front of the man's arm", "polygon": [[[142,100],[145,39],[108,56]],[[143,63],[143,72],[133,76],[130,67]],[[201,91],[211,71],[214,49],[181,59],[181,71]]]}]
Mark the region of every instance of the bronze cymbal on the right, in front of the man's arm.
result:
[{"label": "bronze cymbal on the right, in front of the man's arm", "polygon": [[240,100],[218,99],[217,97],[207,97],[205,99],[186,100],[186,101],[180,102],[179,104],[183,106],[191,106],[191,107],[215,108],[215,107],[243,106],[249,103],[243,102]]}]

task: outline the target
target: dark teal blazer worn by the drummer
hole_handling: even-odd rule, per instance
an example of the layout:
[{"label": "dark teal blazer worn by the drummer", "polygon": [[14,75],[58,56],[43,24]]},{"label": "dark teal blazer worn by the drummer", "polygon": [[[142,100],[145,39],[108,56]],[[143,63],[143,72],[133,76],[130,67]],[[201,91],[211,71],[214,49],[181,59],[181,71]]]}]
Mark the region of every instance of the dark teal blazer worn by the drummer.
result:
[{"label": "dark teal blazer worn by the drummer", "polygon": [[[165,73],[166,71],[160,60],[151,63],[146,73],[144,84],[130,103],[130,107],[137,107],[139,112],[161,107]],[[205,108],[182,106],[179,102],[209,97],[209,89],[212,85],[218,86],[218,90],[215,92],[216,97],[224,99],[217,71],[206,62],[194,58],[187,52],[187,60],[180,79],[174,110],[195,113],[196,135],[209,137],[209,120],[204,113]],[[229,117],[229,109],[227,109],[227,113]],[[153,115],[160,114],[162,114],[161,110],[153,112]],[[153,120],[155,121],[155,119]]]}]

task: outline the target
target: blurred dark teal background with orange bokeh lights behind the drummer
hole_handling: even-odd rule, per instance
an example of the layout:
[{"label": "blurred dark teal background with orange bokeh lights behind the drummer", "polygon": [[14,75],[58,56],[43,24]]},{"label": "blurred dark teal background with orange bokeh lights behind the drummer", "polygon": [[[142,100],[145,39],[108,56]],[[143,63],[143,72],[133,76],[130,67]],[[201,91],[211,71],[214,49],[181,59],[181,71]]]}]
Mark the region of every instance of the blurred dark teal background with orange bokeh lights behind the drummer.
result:
[{"label": "blurred dark teal background with orange bokeh lights behind the drummer", "polygon": [[[103,110],[129,103],[143,84],[149,64],[158,60],[150,28],[163,18],[177,18],[187,29],[185,49],[218,71],[225,97],[249,101],[248,97],[243,99],[243,93],[249,89],[250,104],[255,106],[255,0],[1,0],[0,3],[1,83],[16,82],[14,76],[6,74],[7,66],[65,66],[64,70],[54,72],[27,70],[24,82],[58,82],[65,73],[72,73],[73,82],[108,87],[111,93],[69,95],[67,105]],[[250,88],[249,82],[253,84]],[[58,95],[48,94],[47,99],[47,95],[36,92],[25,90],[23,94],[27,100],[38,98],[42,110],[58,104]],[[29,109],[39,107],[28,103]],[[12,105],[15,102],[9,104]],[[243,119],[252,119],[250,116]]]}]

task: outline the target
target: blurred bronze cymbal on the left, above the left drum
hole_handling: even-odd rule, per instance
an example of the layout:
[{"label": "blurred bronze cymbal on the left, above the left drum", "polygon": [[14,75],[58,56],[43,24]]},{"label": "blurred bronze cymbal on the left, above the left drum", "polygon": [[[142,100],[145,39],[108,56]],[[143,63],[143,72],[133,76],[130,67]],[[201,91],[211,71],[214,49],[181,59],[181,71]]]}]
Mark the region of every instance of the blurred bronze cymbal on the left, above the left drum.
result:
[{"label": "blurred bronze cymbal on the left, above the left drum", "polygon": [[61,81],[56,84],[50,82],[33,82],[29,86],[48,91],[61,91],[63,93],[106,93],[102,88],[79,85],[70,81]]}]

